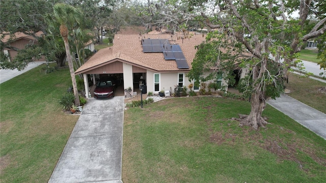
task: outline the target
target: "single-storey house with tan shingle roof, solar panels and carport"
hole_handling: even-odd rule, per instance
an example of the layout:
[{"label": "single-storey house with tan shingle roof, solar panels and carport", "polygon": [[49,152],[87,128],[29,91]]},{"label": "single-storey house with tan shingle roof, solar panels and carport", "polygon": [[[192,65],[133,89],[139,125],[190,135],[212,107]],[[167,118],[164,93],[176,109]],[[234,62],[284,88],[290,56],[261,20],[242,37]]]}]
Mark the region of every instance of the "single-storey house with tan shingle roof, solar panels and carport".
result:
[{"label": "single-storey house with tan shingle roof, solar panels and carport", "polygon": [[[205,40],[205,35],[198,33],[189,33],[184,39],[182,36],[160,33],[115,35],[112,47],[99,50],[75,74],[84,74],[87,94],[89,86],[95,84],[95,80],[89,84],[88,75],[92,78],[118,76],[123,80],[123,88],[130,87],[132,91],[139,88],[142,77],[147,93],[157,94],[161,90],[173,93],[176,85],[194,83],[186,74],[192,67],[197,51],[195,46]],[[222,83],[222,78],[218,82]],[[225,81],[223,84],[227,85]]]}]

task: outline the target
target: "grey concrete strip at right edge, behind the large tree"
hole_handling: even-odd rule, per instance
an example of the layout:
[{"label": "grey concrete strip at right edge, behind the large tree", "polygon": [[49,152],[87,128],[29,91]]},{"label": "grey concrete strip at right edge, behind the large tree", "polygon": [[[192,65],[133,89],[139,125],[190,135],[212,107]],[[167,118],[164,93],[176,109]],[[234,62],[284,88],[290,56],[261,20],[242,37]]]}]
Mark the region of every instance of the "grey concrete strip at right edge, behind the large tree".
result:
[{"label": "grey concrete strip at right edge, behind the large tree", "polygon": [[285,94],[267,102],[326,140],[326,114]]}]

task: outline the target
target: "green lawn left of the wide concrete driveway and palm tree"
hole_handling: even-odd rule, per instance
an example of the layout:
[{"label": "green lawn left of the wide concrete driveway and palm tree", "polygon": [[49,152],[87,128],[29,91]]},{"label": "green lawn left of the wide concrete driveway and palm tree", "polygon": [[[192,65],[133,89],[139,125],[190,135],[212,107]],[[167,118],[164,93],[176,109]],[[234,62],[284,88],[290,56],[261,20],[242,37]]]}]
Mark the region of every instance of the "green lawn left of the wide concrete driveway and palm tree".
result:
[{"label": "green lawn left of the wide concrete driveway and palm tree", "polygon": [[47,182],[78,119],[58,104],[69,69],[41,71],[0,84],[1,182]]}]

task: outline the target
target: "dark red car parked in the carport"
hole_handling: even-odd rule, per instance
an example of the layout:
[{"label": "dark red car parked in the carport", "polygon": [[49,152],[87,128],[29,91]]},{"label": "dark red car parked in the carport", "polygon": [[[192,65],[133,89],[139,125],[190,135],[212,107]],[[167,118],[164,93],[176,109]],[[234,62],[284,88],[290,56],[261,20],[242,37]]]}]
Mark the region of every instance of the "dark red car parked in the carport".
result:
[{"label": "dark red car parked in the carport", "polygon": [[114,89],[115,84],[112,79],[101,79],[94,90],[94,98],[102,99],[102,98],[111,98],[114,97]]}]

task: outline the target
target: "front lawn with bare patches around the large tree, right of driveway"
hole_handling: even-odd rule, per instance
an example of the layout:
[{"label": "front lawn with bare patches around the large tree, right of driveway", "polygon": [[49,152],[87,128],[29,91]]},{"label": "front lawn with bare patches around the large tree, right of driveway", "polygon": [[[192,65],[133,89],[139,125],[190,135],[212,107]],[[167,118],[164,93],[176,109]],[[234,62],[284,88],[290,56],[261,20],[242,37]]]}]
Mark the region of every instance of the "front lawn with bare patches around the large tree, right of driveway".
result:
[{"label": "front lawn with bare patches around the large tree, right of driveway", "polygon": [[124,114],[122,181],[323,182],[326,141],[267,106],[258,131],[230,120],[250,103],[172,98]]}]

